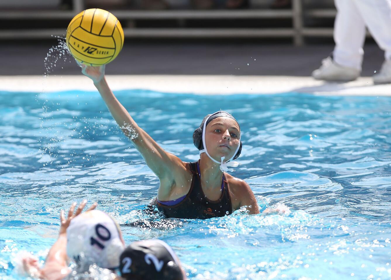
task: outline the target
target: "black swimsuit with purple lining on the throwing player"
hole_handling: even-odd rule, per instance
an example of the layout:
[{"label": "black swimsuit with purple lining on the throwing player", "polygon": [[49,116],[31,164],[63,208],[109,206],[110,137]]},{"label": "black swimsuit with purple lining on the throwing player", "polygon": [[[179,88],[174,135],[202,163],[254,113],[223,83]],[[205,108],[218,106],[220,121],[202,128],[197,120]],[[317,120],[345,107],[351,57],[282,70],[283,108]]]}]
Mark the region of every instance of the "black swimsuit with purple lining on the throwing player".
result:
[{"label": "black swimsuit with purple lining on the throwing player", "polygon": [[231,197],[228,182],[223,172],[222,194],[219,200],[209,200],[201,187],[201,176],[198,172],[198,162],[189,162],[193,174],[192,184],[186,197],[176,205],[167,206],[160,203],[157,197],[152,204],[163,212],[167,218],[208,219],[222,217],[232,213]]}]

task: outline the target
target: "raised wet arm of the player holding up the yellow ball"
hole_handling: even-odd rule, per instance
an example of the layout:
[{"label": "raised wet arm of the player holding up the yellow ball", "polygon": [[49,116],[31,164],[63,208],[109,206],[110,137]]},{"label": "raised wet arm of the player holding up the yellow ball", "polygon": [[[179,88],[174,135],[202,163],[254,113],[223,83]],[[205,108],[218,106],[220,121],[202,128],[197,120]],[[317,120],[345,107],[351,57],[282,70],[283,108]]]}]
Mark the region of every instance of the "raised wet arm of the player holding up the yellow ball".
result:
[{"label": "raised wet arm of the player holding up the yellow ball", "polygon": [[172,174],[183,170],[181,159],[164,151],[151,136],[136,124],[110,90],[104,76],[104,65],[94,67],[81,64],[81,68],[82,73],[93,81],[111,115],[124,134],[133,142],[152,172],[159,177],[161,186],[172,184],[172,180],[174,180]]}]

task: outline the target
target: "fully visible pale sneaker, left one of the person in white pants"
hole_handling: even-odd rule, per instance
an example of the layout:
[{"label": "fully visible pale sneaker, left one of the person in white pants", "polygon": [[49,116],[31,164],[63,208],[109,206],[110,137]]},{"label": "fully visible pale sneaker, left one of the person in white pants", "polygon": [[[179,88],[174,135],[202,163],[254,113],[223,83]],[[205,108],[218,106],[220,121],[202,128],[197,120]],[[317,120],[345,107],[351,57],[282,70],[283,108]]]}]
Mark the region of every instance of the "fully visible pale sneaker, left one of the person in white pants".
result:
[{"label": "fully visible pale sneaker, left one of the person in white pants", "polygon": [[359,70],[336,64],[331,57],[323,59],[322,66],[312,72],[312,77],[316,80],[326,81],[349,82],[357,79],[359,76]]}]

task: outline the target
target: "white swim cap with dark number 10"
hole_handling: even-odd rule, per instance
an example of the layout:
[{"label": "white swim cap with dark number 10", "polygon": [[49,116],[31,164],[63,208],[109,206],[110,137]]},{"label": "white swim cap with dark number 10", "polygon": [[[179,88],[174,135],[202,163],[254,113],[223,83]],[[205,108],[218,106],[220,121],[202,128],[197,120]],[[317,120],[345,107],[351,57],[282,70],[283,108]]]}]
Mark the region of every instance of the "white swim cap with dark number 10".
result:
[{"label": "white swim cap with dark number 10", "polygon": [[66,253],[79,269],[88,270],[91,264],[115,269],[124,244],[117,223],[100,210],[87,211],[75,217],[66,229]]}]

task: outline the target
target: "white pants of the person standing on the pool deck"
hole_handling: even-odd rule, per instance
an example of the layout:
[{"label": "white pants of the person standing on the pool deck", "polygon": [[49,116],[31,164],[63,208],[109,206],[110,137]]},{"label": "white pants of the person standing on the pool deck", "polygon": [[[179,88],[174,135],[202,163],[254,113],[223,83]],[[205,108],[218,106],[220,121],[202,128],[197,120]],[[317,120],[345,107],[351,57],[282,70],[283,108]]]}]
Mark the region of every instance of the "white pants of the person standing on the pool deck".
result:
[{"label": "white pants of the person standing on the pool deck", "polygon": [[334,61],[361,70],[365,27],[391,60],[391,0],[334,0]]}]

